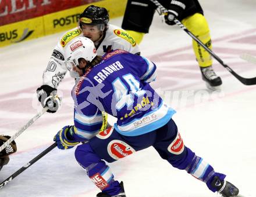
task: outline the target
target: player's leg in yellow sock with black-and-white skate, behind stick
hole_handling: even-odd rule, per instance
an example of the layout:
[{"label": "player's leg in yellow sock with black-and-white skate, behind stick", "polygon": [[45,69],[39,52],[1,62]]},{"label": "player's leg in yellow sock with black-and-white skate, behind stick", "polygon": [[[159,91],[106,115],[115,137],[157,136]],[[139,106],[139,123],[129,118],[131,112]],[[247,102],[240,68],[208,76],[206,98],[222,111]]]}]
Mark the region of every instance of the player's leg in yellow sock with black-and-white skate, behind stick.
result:
[{"label": "player's leg in yellow sock with black-and-white skate, behind stick", "polygon": [[[188,5],[180,17],[180,20],[189,31],[202,41],[202,43],[204,43],[209,49],[212,49],[208,23],[203,15],[199,2],[197,0],[189,0],[187,3]],[[196,41],[194,41],[194,39],[193,49],[198,64],[200,65],[202,79],[207,83],[207,87],[212,90],[219,89],[222,81],[221,78],[215,74],[212,68],[211,55]]]}]

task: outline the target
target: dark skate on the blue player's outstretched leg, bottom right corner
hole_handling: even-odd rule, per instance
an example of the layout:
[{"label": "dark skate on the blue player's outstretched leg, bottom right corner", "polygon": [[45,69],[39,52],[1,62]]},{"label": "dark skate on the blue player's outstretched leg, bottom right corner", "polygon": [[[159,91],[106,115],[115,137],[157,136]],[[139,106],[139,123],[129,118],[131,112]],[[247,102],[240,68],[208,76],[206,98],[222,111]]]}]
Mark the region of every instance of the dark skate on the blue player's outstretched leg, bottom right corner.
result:
[{"label": "dark skate on the blue player's outstretched leg, bottom right corner", "polygon": [[212,187],[215,187],[218,193],[223,197],[237,196],[239,194],[239,189],[236,186],[234,186],[232,183],[229,183],[228,181],[219,180],[219,177],[217,176],[214,177],[211,185]]}]

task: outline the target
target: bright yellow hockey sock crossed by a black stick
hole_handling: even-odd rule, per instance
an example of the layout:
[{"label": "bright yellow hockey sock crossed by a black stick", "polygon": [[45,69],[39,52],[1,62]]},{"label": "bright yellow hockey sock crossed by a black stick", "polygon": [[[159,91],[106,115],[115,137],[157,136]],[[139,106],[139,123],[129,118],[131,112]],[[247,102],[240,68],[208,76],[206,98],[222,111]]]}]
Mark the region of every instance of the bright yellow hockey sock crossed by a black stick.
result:
[{"label": "bright yellow hockey sock crossed by a black stick", "polygon": [[[212,49],[208,23],[202,14],[195,13],[192,16],[183,19],[182,23],[185,25],[185,27],[187,27],[189,31],[197,36],[200,41],[202,41],[202,43],[204,43],[209,49]],[[194,39],[193,49],[200,67],[208,67],[209,65],[212,65],[211,55],[196,41],[194,41]]]}]

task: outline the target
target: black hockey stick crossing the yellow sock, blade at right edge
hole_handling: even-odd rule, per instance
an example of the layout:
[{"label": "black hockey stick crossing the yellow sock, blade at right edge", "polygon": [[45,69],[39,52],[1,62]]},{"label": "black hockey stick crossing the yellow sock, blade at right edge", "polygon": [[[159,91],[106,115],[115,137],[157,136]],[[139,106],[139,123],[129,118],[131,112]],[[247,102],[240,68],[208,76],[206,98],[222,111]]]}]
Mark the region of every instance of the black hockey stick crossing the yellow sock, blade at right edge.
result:
[{"label": "black hockey stick crossing the yellow sock, blade at right edge", "polygon": [[[150,0],[152,3],[154,3],[161,11],[161,13],[168,13],[168,10],[164,8],[161,3],[159,3],[157,0]],[[234,77],[236,77],[241,83],[244,85],[255,85],[256,84],[256,77],[254,78],[243,78],[240,75],[237,75],[236,72],[234,72],[227,64],[225,64],[214,52],[212,52],[211,49],[207,48],[207,46],[204,45],[198,39],[194,34],[192,34],[179,20],[175,19],[173,20],[180,28],[182,28],[187,34],[190,35],[191,38],[193,38],[199,45],[202,46],[209,54],[211,54],[212,57],[214,57],[215,60],[217,60],[223,67],[226,68],[227,71],[229,71]]]}]

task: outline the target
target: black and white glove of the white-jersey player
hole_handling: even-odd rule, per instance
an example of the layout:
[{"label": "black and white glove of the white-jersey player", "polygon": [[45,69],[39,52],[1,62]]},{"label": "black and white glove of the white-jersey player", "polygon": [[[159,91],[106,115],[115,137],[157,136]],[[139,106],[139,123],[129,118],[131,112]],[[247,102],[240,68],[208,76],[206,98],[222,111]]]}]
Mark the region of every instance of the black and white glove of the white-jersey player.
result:
[{"label": "black and white glove of the white-jersey player", "polygon": [[47,106],[47,112],[55,113],[61,107],[61,99],[56,95],[57,89],[42,85],[37,89],[37,98],[42,107]]}]

